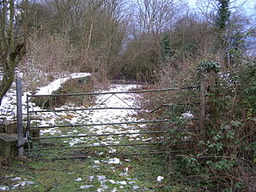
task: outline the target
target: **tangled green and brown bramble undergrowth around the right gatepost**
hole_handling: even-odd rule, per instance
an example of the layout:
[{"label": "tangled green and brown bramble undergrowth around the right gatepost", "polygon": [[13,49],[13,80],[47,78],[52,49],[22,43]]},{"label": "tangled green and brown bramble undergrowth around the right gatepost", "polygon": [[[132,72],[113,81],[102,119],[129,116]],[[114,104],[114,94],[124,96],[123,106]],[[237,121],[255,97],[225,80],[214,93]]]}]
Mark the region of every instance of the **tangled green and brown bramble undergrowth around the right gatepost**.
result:
[{"label": "tangled green and brown bramble undergrowth around the right gatepost", "polygon": [[[167,131],[166,137],[154,139],[171,143],[167,150],[177,151],[170,153],[166,160],[173,179],[188,183],[195,191],[253,192],[256,190],[255,62],[244,63],[242,67],[213,69],[212,73],[209,70],[218,66],[218,62],[205,61],[203,64],[198,69],[193,63],[185,68],[168,68],[154,89],[183,87],[185,84],[198,86],[200,79],[197,74],[205,73],[205,137],[200,130],[200,100],[196,89],[146,95],[143,105],[148,110],[163,103],[169,104],[150,113],[149,117],[170,119],[171,123],[150,129]],[[186,113],[193,114],[193,117],[185,117]]]}]

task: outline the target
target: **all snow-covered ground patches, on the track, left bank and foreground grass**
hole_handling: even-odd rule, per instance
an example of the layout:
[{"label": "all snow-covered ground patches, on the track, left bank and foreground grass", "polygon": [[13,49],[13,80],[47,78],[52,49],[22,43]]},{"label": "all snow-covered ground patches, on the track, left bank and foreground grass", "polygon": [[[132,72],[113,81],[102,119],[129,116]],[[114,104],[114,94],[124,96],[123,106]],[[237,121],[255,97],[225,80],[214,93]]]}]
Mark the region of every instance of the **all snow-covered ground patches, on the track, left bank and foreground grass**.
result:
[{"label": "all snow-covered ground patches, on the track, left bank and foreground grass", "polygon": [[[79,73],[72,74],[70,78],[78,78],[88,76],[88,73]],[[56,79],[48,86],[42,87],[38,90],[37,94],[44,95],[50,94],[52,91],[57,90],[61,84],[63,84],[68,78],[65,79]],[[127,91],[134,88],[139,87],[138,84],[111,84],[109,87],[110,92],[119,92],[119,91]],[[24,94],[23,102],[25,102],[26,94]],[[137,94],[125,93],[125,94],[116,94],[116,95],[98,95],[96,96],[96,104],[90,108],[139,108],[138,99],[139,96]],[[10,90],[9,95],[5,98],[5,107],[9,106],[15,113],[15,91]],[[24,103],[25,107],[25,103]],[[73,108],[73,105],[70,104],[68,106],[62,106],[61,108]],[[55,109],[61,109],[55,108]],[[81,107],[83,108],[83,107]],[[3,108],[4,109],[4,108]],[[32,110],[38,110],[40,108],[32,106]],[[5,112],[9,112],[4,109]],[[67,111],[67,112],[59,112],[59,113],[37,113],[38,117],[42,119],[38,122],[38,126],[40,125],[56,125],[58,123],[65,125],[88,125],[88,124],[104,124],[104,123],[119,123],[124,121],[137,121],[143,119],[136,118],[137,111],[136,110],[127,110],[127,109],[99,109],[93,111]],[[68,118],[67,118],[68,117]],[[67,129],[59,129],[58,127],[45,129],[40,131],[41,136],[74,136],[74,135],[84,135],[84,134],[104,134],[104,133],[121,133],[121,132],[132,132],[138,133],[131,136],[119,136],[119,137],[103,137],[100,140],[96,137],[78,137],[78,138],[65,138],[62,139],[61,145],[66,146],[76,146],[81,143],[85,145],[105,145],[105,144],[117,144],[123,143],[126,141],[148,141],[148,138],[144,138],[139,134],[139,130],[142,130],[145,125],[97,125],[97,126],[82,126],[82,127],[68,127]],[[106,158],[102,158],[99,160],[93,160],[92,157],[88,156],[88,160],[92,160],[92,166],[90,168],[96,169],[99,172],[104,169],[106,165],[113,166],[113,172],[116,172],[115,167],[119,167],[119,165],[124,166],[129,164],[131,160],[129,159],[119,159],[110,157],[109,154],[118,153],[116,148],[109,147],[107,151],[99,153],[102,155],[106,153]],[[103,170],[102,170],[103,171]],[[73,172],[68,173],[70,175]],[[93,174],[93,172],[91,172]],[[119,177],[113,177],[111,175],[88,175],[86,177],[89,178],[90,183],[84,183],[84,179],[82,177],[76,177],[73,182],[79,183],[79,190],[81,189],[93,189],[94,191],[119,191],[123,189],[131,189],[132,191],[142,190],[142,191],[150,191],[149,189],[144,188],[139,182],[137,177],[132,177],[130,168],[125,166],[123,168],[123,172],[119,173]],[[164,179],[162,176],[155,177],[156,182],[161,182]],[[0,190],[9,190],[15,189],[17,187],[22,186],[30,186],[33,188],[33,182],[21,182],[17,183],[14,186],[0,186]],[[94,183],[99,182],[100,187],[97,189]]]}]

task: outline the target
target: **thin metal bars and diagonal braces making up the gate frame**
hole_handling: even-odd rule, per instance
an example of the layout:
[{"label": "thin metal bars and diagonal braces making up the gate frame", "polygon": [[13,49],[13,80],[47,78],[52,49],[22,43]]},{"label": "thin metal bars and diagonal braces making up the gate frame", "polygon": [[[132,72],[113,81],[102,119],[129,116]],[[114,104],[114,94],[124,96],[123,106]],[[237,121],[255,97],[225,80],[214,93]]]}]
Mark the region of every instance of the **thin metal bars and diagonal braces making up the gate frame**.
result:
[{"label": "thin metal bars and diagonal braces making up the gate frame", "polygon": [[[21,83],[21,81],[20,81]],[[51,138],[63,138],[63,137],[29,137],[29,131],[30,130],[40,130],[40,129],[47,129],[47,128],[53,128],[53,127],[67,127],[67,126],[86,126],[86,125],[49,125],[49,126],[31,126],[31,120],[29,114],[30,113],[44,113],[44,112],[62,112],[62,111],[78,111],[78,110],[101,110],[101,109],[126,109],[126,110],[140,110],[141,108],[97,108],[98,106],[102,105],[104,102],[107,102],[108,99],[111,97],[108,97],[107,100],[97,105],[96,108],[71,108],[71,109],[42,109],[42,110],[35,110],[30,111],[29,106],[29,100],[32,97],[55,97],[55,96],[97,96],[97,95],[112,95],[115,96],[116,94],[140,94],[140,93],[148,93],[148,92],[160,92],[160,91],[171,91],[171,90],[189,90],[189,89],[197,89],[199,86],[188,86],[188,87],[181,87],[181,88],[169,88],[169,89],[160,89],[160,90],[131,90],[131,91],[117,91],[117,92],[88,92],[88,93],[73,93],[73,94],[52,94],[52,95],[26,95],[26,134],[28,134],[27,140],[28,140],[28,153],[35,150],[50,150],[50,149],[73,149],[73,148],[106,148],[106,147],[114,147],[114,146],[138,146],[138,145],[155,145],[155,144],[168,144],[167,142],[162,143],[132,143],[132,144],[119,144],[119,145],[99,145],[99,146],[80,146],[80,147],[63,147],[63,148],[31,148],[31,142],[33,140],[43,140],[43,139],[51,139]],[[18,90],[18,88],[17,88]],[[18,94],[17,94],[18,96]],[[118,96],[117,96],[118,97]],[[118,97],[119,98],[119,97]],[[119,98],[120,99],[120,98]],[[120,99],[122,100],[122,99]],[[123,101],[123,100],[122,100]],[[123,101],[125,102],[125,101]],[[205,102],[205,101],[204,101]],[[127,103],[125,103],[127,104]],[[190,104],[201,104],[201,102],[198,103],[181,103],[181,104],[162,104],[158,108],[154,108],[149,113],[153,113],[154,111],[159,110],[163,107],[170,107],[173,105],[190,105]],[[127,104],[128,105],[128,104]],[[17,105],[17,108],[18,107]],[[22,106],[21,106],[22,108]],[[204,115],[203,115],[204,116]],[[201,116],[202,117],[202,116]],[[21,110],[21,122],[22,122],[22,110]],[[88,124],[88,125],[120,125],[120,124],[146,124],[146,123],[159,123],[159,122],[171,122],[170,119],[154,119],[154,120],[148,120],[148,121],[131,121],[131,122],[119,122],[119,123],[106,123],[106,124]],[[200,129],[201,130],[201,129]],[[200,131],[198,129],[196,130],[187,130],[187,131]],[[184,130],[183,130],[184,131]],[[23,132],[23,131],[22,131]],[[179,132],[177,130],[177,132]],[[167,131],[144,131],[144,132],[136,132],[136,133],[118,133],[118,135],[132,135],[132,134],[155,134],[155,133],[164,133],[166,134]],[[67,136],[67,137],[101,137],[101,136],[110,136],[113,134],[87,134],[83,136]],[[22,137],[23,140],[23,137]],[[193,141],[189,141],[193,142]],[[19,145],[18,145],[19,146]],[[22,145],[23,147],[23,145]],[[186,151],[186,150],[183,150]],[[190,151],[190,150],[188,150]],[[170,153],[178,153],[180,151],[163,151],[163,152],[152,152],[152,153],[141,153],[141,154],[115,154],[115,155],[144,155],[144,154],[170,154]],[[113,154],[112,154],[113,155]],[[67,158],[65,158],[67,159]]]}]

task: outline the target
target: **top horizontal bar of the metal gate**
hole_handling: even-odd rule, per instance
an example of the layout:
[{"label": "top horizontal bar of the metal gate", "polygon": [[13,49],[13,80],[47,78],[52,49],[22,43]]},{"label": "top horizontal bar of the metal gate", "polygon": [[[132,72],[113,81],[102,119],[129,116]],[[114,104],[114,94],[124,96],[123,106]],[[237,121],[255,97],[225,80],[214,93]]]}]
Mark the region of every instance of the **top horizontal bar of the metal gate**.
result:
[{"label": "top horizontal bar of the metal gate", "polygon": [[199,88],[198,86],[189,86],[181,88],[169,88],[161,90],[130,90],[130,91],[119,91],[119,92],[88,92],[88,93],[73,93],[73,94],[52,94],[52,95],[28,95],[29,97],[43,97],[43,96],[98,96],[98,95],[109,95],[109,94],[130,94],[130,93],[149,93],[149,92],[161,92],[169,90],[189,90]]}]

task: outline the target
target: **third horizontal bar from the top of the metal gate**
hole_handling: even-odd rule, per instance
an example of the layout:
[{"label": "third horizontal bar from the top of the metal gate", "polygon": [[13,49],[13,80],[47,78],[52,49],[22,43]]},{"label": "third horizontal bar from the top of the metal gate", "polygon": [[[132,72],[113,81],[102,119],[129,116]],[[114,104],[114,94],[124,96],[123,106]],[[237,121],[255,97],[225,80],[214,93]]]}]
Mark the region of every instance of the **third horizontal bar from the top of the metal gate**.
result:
[{"label": "third horizontal bar from the top of the metal gate", "polygon": [[49,129],[55,127],[79,127],[79,126],[98,126],[98,125],[124,125],[124,124],[147,124],[147,123],[162,123],[170,122],[170,119],[154,119],[154,120],[145,120],[145,121],[126,121],[119,123],[101,123],[101,124],[82,124],[82,125],[47,125],[47,126],[31,126],[30,130],[37,129]]}]

